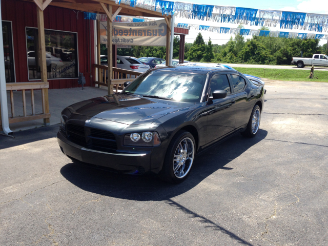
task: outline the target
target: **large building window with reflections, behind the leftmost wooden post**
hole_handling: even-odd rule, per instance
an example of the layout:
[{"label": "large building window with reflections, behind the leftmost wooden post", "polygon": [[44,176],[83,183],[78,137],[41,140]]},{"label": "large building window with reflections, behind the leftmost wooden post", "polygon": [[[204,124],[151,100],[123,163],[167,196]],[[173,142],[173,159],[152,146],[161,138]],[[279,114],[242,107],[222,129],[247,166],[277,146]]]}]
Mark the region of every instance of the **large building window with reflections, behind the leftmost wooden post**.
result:
[{"label": "large building window with reflections, behind the leftmost wooden post", "polygon": [[[77,34],[45,29],[47,77],[77,78]],[[26,28],[29,79],[40,79],[37,28]]]}]

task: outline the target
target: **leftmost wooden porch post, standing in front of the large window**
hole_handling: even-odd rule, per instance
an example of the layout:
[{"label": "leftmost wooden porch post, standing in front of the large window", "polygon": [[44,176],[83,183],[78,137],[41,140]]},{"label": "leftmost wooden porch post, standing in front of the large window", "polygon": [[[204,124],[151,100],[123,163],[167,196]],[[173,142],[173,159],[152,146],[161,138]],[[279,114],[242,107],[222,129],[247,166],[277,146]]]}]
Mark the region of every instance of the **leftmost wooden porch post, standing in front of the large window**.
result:
[{"label": "leftmost wooden porch post, standing in front of the large window", "polygon": [[[43,0],[38,0],[41,4],[43,4]],[[46,61],[46,39],[45,39],[45,23],[43,11],[40,10],[39,7],[36,7],[37,13],[37,29],[38,29],[38,52],[40,55],[40,74],[41,81],[47,82],[47,61]],[[49,114],[49,97],[48,97],[48,89],[43,89],[42,99],[44,101],[44,113]],[[45,118],[43,120],[45,126],[50,125],[50,118]]]}]

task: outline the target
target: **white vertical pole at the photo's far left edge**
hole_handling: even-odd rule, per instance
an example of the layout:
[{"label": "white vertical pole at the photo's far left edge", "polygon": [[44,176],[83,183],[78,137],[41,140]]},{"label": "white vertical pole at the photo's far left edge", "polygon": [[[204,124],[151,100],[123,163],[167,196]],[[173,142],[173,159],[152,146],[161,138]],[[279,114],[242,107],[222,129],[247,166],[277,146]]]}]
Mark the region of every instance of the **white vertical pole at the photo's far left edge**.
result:
[{"label": "white vertical pole at the photo's far left edge", "polygon": [[1,0],[0,0],[0,104],[1,104],[1,122],[2,129],[5,134],[11,135],[9,128],[9,116],[7,105],[7,88],[6,88],[6,71],[5,71],[5,54],[4,39],[2,34],[2,18],[1,18]]}]

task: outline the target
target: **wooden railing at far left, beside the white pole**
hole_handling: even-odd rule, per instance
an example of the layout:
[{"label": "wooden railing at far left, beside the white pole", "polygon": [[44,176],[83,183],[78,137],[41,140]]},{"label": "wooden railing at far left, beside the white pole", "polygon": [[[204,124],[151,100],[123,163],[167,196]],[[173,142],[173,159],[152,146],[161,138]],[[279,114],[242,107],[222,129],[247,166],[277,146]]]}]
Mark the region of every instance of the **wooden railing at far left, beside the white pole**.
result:
[{"label": "wooden railing at far left, beside the white pole", "polygon": [[[7,91],[10,93],[10,108],[11,108],[11,117],[9,118],[9,124],[28,121],[28,120],[35,120],[35,119],[44,119],[44,124],[49,125],[50,113],[49,113],[49,98],[48,98],[48,82],[24,82],[24,83],[6,83]],[[34,103],[34,90],[40,89],[41,90],[41,98],[42,98],[42,113],[36,114],[35,113],[35,103]],[[15,115],[15,108],[14,108],[14,93],[15,90],[22,91],[22,99],[23,99],[23,115],[16,116]],[[31,90],[31,109],[32,114],[27,114],[26,109],[26,95],[25,91]],[[1,112],[0,112],[0,129],[2,126],[1,122]]]}]

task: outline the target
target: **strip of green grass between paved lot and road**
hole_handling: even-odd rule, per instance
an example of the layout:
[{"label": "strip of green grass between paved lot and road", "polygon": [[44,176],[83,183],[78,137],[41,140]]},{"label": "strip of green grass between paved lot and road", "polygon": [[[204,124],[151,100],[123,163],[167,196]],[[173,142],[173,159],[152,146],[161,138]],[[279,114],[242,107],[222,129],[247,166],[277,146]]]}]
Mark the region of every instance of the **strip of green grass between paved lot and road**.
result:
[{"label": "strip of green grass between paved lot and road", "polygon": [[[263,68],[234,68],[237,71],[245,74],[250,74],[253,76],[261,78],[276,79],[282,81],[312,81],[312,82],[328,82],[328,71],[320,71],[314,69],[314,76],[318,79],[308,78],[310,75],[309,70],[301,69],[264,69]],[[264,75],[265,73],[265,75]]]}]

